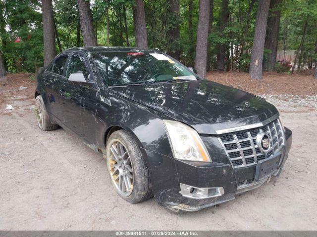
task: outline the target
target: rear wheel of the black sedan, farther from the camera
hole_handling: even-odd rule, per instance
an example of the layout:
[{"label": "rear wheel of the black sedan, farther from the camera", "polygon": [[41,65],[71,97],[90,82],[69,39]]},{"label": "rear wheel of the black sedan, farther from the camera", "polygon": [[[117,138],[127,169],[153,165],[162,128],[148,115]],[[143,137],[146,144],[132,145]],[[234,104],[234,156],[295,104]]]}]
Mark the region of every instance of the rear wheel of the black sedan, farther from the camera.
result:
[{"label": "rear wheel of the black sedan, farther from the camera", "polygon": [[38,126],[43,131],[51,131],[58,128],[57,124],[51,123],[50,116],[46,111],[44,101],[41,95],[35,98],[35,114]]}]

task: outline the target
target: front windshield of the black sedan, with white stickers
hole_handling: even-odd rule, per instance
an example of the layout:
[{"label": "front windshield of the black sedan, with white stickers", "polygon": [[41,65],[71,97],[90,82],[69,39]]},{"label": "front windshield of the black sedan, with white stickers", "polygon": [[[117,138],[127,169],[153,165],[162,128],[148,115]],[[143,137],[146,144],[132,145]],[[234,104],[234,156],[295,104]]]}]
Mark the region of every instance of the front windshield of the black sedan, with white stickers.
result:
[{"label": "front windshield of the black sedan, with white stickers", "polygon": [[191,71],[162,53],[94,52],[94,61],[108,85],[197,80]]}]

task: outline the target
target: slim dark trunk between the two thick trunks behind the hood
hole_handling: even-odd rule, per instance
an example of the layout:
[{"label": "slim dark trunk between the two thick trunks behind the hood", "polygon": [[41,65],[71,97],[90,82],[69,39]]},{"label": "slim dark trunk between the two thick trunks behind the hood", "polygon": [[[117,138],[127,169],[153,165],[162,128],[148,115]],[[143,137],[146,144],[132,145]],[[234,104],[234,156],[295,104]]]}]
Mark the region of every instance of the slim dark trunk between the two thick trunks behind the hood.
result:
[{"label": "slim dark trunk between the two thick trunks behind the hood", "polygon": [[[220,26],[219,30],[221,32],[221,37],[224,37],[223,31],[224,28],[227,26],[229,21],[229,0],[222,0],[221,2],[221,14],[220,14]],[[220,44],[218,46],[218,53],[217,53],[217,68],[218,70],[224,70],[224,60],[225,60],[225,50],[226,44]]]}]

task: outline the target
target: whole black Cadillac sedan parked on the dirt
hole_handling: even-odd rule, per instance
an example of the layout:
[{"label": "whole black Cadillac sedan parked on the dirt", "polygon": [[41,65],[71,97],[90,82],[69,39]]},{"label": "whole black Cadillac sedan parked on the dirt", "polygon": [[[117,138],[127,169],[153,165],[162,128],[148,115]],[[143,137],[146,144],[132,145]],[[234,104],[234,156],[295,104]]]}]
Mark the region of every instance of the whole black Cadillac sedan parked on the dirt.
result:
[{"label": "whole black Cadillac sedan parked on the dirt", "polygon": [[279,174],[292,132],[264,99],[193,71],[158,50],[66,50],[37,75],[38,125],[103,153],[131,203],[196,211],[232,200]]}]

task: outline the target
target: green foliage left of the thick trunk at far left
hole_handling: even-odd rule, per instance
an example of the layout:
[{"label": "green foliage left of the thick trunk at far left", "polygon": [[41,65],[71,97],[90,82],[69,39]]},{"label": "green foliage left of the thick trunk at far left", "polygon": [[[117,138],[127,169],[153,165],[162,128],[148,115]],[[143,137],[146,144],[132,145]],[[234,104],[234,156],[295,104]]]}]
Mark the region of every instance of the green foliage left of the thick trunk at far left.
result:
[{"label": "green foliage left of the thick trunk at far left", "polygon": [[[8,26],[1,34],[9,72],[35,72],[43,65],[43,30],[40,5],[36,0],[5,0],[3,19]],[[20,38],[20,42],[15,42]]]}]

